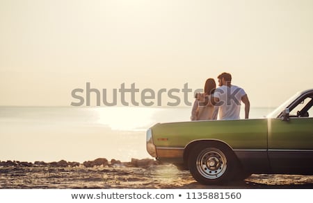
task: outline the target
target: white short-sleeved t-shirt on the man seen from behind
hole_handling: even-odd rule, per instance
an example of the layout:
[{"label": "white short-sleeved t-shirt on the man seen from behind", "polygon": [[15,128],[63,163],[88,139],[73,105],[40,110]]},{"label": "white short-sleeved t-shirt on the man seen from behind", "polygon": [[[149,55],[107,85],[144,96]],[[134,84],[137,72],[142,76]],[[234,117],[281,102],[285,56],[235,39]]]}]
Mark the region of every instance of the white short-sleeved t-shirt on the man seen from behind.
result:
[{"label": "white short-sleeved t-shirt on the man seen from behind", "polygon": [[230,87],[223,85],[216,88],[214,97],[220,100],[216,104],[219,106],[218,114],[220,120],[240,119],[241,97],[245,95],[246,92],[236,85],[231,85]]}]

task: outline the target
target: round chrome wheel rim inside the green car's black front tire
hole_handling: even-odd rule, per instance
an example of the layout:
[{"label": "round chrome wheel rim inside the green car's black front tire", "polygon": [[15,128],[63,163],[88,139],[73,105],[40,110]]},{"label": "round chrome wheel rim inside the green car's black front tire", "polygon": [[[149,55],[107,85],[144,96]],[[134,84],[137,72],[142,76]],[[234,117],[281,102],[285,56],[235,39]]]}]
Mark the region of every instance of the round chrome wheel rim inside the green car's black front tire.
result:
[{"label": "round chrome wheel rim inside the green car's black front tire", "polygon": [[205,148],[198,155],[195,165],[200,175],[207,179],[216,179],[225,173],[227,159],[222,151]]}]

